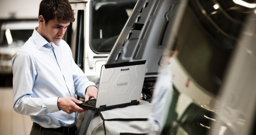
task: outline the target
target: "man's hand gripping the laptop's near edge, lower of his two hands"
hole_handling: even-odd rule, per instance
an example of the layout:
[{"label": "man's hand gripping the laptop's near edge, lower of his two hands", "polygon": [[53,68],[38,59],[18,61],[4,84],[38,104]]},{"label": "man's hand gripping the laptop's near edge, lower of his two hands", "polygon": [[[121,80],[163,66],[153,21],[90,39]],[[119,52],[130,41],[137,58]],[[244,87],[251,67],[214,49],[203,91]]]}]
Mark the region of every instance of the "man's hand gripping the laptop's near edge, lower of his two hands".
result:
[{"label": "man's hand gripping the laptop's near edge, lower of his two hands", "polygon": [[59,97],[57,101],[58,107],[70,114],[73,112],[83,112],[85,109],[80,108],[76,103],[83,103],[82,101],[76,100],[74,97]]}]

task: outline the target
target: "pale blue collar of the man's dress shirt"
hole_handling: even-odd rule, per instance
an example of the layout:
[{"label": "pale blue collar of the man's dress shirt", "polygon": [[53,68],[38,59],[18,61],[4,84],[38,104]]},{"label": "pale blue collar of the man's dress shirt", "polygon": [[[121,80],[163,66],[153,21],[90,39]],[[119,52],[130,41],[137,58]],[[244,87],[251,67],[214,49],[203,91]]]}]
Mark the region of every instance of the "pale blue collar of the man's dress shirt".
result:
[{"label": "pale blue collar of the man's dress shirt", "polygon": [[[47,48],[49,48],[49,47],[52,48],[51,45],[49,44],[49,42],[48,42],[46,39],[44,39],[44,37],[42,37],[42,36],[36,31],[37,28],[38,28],[38,27],[36,27],[36,28],[34,29],[34,32],[33,32],[33,34],[32,34],[32,38],[33,38],[34,41],[35,41],[35,44],[36,44],[37,49],[41,48],[42,46],[45,46],[45,47],[47,47]],[[58,43],[53,43],[53,42],[52,42],[52,44],[55,44],[55,45],[57,45],[57,46],[60,46]]]}]

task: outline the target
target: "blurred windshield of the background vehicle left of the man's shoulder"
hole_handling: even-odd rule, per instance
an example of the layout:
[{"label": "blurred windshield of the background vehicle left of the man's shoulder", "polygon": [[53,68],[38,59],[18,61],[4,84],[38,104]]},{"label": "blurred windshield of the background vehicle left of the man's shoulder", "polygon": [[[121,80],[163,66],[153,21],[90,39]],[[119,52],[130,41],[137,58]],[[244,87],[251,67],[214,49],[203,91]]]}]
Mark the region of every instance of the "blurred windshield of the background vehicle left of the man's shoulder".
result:
[{"label": "blurred windshield of the background vehicle left of the man's shoulder", "polygon": [[0,46],[22,46],[28,38],[32,35],[31,30],[1,30],[0,32]]}]

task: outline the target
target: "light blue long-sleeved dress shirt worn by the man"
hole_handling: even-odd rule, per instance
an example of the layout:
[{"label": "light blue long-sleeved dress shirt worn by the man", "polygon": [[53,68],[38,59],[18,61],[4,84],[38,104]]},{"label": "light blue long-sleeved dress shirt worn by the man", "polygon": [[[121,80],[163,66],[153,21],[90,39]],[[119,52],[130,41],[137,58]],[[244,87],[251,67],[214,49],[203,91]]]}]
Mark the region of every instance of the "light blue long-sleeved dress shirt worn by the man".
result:
[{"label": "light blue long-sleeved dress shirt worn by the man", "polygon": [[84,97],[95,84],[76,65],[64,40],[51,46],[36,29],[12,59],[13,109],[45,128],[73,126],[77,112],[59,110],[58,97]]}]

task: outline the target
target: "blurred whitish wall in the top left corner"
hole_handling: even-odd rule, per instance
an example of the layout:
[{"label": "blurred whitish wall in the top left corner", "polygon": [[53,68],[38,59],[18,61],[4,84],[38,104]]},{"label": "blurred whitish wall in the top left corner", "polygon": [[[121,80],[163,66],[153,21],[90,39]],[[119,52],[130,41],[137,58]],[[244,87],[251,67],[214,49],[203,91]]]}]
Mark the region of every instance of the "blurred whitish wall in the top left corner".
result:
[{"label": "blurred whitish wall in the top left corner", "polygon": [[0,0],[0,19],[9,19],[14,15],[16,19],[38,18],[41,0]]}]

